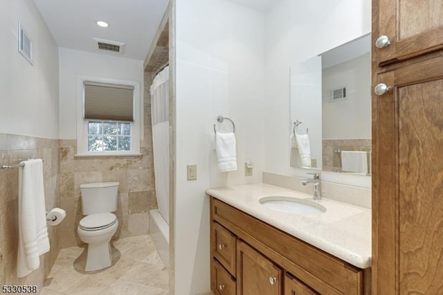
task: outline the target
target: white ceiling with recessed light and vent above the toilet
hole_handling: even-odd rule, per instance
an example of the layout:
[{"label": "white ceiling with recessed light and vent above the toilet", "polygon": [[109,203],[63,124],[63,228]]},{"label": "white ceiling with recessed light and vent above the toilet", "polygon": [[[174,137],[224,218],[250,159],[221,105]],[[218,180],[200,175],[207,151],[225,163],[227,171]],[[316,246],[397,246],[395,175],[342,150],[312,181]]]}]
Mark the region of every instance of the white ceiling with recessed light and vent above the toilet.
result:
[{"label": "white ceiling with recessed light and vent above the toilet", "polygon": [[[253,0],[251,0],[253,1]],[[34,0],[58,46],[96,49],[93,37],[125,43],[118,56],[145,60],[168,0]],[[106,21],[100,28],[96,21]],[[103,53],[103,52],[102,52]],[[116,55],[116,53],[105,53]]]}]

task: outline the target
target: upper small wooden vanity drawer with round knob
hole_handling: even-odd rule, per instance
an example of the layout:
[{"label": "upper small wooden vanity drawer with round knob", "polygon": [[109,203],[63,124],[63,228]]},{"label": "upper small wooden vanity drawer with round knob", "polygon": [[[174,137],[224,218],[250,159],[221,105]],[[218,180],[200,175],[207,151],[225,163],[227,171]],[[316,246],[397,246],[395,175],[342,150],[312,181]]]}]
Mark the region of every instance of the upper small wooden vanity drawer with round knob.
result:
[{"label": "upper small wooden vanity drawer with round knob", "polygon": [[212,255],[235,277],[235,235],[213,222]]}]

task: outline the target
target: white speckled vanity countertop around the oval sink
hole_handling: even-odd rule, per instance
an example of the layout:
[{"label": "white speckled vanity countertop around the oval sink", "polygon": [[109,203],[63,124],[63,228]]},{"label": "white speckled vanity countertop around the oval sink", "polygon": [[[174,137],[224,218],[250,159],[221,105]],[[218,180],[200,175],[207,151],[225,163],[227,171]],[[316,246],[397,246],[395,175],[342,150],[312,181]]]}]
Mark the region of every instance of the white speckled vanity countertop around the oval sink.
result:
[{"label": "white speckled vanity countertop around the oval sink", "polygon": [[274,211],[260,204],[259,199],[269,196],[312,199],[312,196],[269,184],[208,188],[206,193],[351,265],[361,269],[371,265],[370,209],[322,199],[318,204],[327,211],[318,215]]}]

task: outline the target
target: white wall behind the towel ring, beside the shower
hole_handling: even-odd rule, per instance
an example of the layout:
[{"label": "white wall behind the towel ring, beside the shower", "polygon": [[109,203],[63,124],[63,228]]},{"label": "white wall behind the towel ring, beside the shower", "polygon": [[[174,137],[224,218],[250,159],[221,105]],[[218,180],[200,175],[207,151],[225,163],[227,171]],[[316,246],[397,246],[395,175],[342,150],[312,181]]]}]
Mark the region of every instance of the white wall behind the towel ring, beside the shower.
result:
[{"label": "white wall behind the towel ring, beside the shower", "polygon": [[[177,294],[210,290],[206,188],[261,181],[264,14],[223,0],[177,0]],[[217,172],[211,147],[217,115],[235,122],[236,172]],[[225,121],[217,129],[231,130]],[[244,177],[244,161],[255,163]],[[186,165],[197,164],[197,181]]]}]

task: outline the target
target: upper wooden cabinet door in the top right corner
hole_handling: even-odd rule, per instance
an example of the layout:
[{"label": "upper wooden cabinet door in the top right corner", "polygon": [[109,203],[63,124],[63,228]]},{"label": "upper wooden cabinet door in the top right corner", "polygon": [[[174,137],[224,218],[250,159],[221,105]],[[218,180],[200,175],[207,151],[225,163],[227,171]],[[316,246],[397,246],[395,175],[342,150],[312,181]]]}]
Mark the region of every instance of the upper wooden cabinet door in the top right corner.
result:
[{"label": "upper wooden cabinet door in the top right corner", "polygon": [[379,64],[406,60],[443,47],[443,1],[373,0],[372,39],[386,35],[390,45],[377,48]]}]

